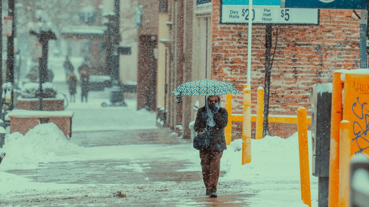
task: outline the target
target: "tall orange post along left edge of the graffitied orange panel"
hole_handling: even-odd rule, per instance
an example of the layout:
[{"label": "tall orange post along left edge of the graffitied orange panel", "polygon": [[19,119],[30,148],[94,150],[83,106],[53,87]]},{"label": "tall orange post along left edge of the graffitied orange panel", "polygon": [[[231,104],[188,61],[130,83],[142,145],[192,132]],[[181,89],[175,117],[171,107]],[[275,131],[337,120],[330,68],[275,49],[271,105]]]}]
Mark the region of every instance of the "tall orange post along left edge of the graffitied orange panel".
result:
[{"label": "tall orange post along left edge of the graffitied orange panel", "polygon": [[329,153],[328,207],[338,206],[339,192],[339,123],[342,120],[341,73],[333,73],[331,108],[331,144]]}]

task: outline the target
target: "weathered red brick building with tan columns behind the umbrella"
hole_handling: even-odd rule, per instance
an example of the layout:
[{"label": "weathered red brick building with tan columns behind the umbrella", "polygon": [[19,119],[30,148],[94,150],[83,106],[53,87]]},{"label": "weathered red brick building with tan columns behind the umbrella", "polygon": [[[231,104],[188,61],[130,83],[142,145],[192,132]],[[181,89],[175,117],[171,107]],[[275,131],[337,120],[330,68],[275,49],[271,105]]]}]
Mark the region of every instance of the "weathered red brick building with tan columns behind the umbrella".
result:
[{"label": "weathered red brick building with tan columns behind the umbrella", "polygon": [[[221,0],[166,3],[168,10],[160,14],[165,18],[159,18],[158,31],[158,123],[188,138],[189,123],[196,108],[204,105],[204,97],[183,97],[182,103],[176,103],[170,93],[181,83],[203,78],[225,81],[242,91],[248,75],[248,25],[221,24]],[[334,70],[359,68],[359,18],[352,10],[320,10],[318,15],[317,25],[271,26],[269,115],[296,115],[300,106],[310,114],[313,84],[331,82]],[[265,86],[265,44],[266,25],[253,25],[252,113],[256,89]],[[224,103],[225,96],[221,98]],[[241,93],[234,95],[232,107],[232,113],[242,113]],[[240,137],[242,124],[233,124],[232,138]],[[269,123],[269,131],[288,137],[297,131],[297,124]]]}]

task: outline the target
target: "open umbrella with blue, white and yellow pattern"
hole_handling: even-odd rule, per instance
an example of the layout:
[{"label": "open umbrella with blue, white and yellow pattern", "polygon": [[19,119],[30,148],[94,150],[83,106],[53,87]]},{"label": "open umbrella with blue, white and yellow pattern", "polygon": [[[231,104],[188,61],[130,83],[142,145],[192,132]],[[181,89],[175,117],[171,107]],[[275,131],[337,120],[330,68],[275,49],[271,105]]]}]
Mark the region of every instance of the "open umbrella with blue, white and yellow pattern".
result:
[{"label": "open umbrella with blue, white and yellow pattern", "polygon": [[172,94],[177,95],[177,102],[182,102],[181,96],[213,96],[236,94],[239,91],[230,83],[214,80],[198,80],[180,84]]}]

